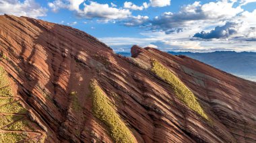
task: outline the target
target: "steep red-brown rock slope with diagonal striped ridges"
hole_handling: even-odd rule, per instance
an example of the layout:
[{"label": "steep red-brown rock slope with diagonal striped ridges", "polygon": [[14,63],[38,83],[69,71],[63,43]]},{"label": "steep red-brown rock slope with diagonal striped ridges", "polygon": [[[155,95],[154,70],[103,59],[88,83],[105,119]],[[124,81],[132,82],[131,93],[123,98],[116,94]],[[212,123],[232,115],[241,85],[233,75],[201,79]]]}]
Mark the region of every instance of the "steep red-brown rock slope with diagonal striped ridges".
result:
[{"label": "steep red-brown rock slope with diagonal striped ridges", "polygon": [[1,128],[1,136],[22,134],[21,142],[256,142],[256,83],[186,56],[133,46],[133,58],[125,58],[79,30],[11,15],[0,16],[0,52],[1,90],[13,93],[0,92],[0,99],[20,99],[34,127]]}]

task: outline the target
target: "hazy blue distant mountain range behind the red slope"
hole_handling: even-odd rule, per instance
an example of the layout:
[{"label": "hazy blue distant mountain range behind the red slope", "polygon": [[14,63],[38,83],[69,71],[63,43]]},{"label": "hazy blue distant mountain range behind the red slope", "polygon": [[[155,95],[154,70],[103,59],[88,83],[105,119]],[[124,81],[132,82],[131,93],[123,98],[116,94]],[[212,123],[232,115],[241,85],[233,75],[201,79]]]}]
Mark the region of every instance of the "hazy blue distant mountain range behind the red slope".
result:
[{"label": "hazy blue distant mountain range behind the red slope", "polygon": [[[256,81],[256,52],[218,51],[208,53],[168,52],[174,55],[185,55],[206,64],[210,64],[227,73]],[[128,52],[119,52],[123,56],[131,56]]]}]

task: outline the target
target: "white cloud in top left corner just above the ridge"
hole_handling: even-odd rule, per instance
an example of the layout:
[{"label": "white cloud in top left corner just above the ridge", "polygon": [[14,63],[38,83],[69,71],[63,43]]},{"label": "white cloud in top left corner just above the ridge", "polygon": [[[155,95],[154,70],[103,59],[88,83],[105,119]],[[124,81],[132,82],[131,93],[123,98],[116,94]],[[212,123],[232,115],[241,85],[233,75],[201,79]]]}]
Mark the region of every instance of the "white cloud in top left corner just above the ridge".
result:
[{"label": "white cloud in top left corner just above the ridge", "polygon": [[0,0],[0,14],[6,13],[16,16],[42,17],[47,9],[41,7],[34,0]]}]

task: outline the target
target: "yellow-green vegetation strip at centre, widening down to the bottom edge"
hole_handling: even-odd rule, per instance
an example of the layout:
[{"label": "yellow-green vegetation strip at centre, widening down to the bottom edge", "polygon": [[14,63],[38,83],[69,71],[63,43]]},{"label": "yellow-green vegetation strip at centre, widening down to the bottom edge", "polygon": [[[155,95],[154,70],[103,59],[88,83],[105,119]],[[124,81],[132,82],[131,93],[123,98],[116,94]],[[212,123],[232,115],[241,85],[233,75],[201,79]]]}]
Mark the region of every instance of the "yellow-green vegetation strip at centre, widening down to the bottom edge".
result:
[{"label": "yellow-green vegetation strip at centre, widening down to the bottom edge", "polygon": [[127,128],[125,123],[121,120],[115,109],[108,103],[108,99],[106,99],[96,81],[92,81],[90,89],[92,92],[92,110],[94,116],[108,126],[110,136],[112,136],[115,142],[135,142],[133,134],[131,134],[129,128]]}]

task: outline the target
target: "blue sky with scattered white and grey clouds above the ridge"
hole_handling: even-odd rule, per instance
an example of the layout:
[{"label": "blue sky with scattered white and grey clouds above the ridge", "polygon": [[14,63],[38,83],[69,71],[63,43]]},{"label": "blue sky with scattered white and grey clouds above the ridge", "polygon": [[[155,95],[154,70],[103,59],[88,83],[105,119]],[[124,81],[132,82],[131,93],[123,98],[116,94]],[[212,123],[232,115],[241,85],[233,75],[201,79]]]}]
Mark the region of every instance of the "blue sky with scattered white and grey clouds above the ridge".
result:
[{"label": "blue sky with scattered white and grey clouds above the ridge", "polygon": [[256,0],[0,0],[3,13],[77,28],[115,52],[256,52]]}]

